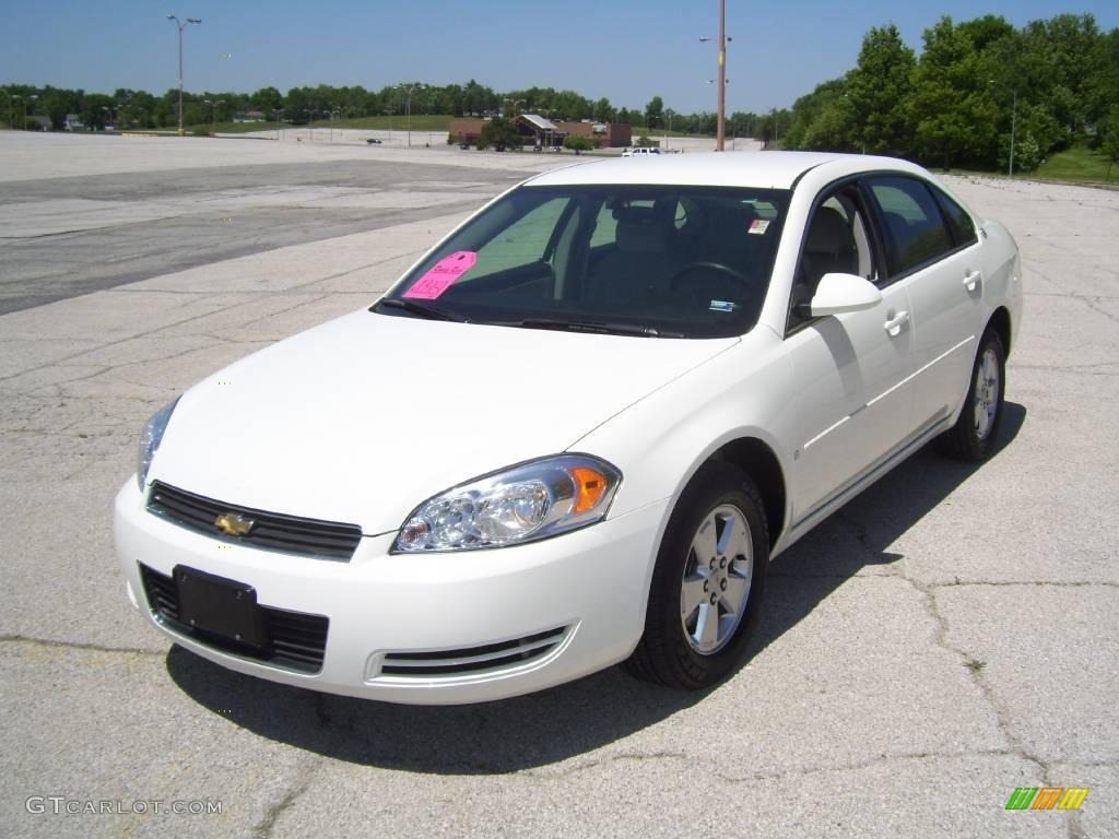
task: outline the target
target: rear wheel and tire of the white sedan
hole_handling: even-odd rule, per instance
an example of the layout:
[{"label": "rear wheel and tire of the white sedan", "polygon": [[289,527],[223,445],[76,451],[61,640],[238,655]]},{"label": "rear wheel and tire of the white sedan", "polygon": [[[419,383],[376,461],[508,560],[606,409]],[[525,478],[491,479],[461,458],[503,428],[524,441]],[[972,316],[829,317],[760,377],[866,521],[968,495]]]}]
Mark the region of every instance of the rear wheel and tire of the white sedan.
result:
[{"label": "rear wheel and tire of the white sedan", "polygon": [[994,329],[984,332],[971,366],[971,384],[960,418],[938,439],[941,454],[957,460],[985,460],[998,442],[1006,395],[1006,350]]}]

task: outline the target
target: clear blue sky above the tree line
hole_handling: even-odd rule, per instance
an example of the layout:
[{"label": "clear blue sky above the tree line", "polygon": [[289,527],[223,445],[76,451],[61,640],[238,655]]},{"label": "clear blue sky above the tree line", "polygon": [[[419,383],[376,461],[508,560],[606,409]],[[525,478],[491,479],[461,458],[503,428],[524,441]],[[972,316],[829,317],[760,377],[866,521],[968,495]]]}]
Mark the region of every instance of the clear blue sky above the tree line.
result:
[{"label": "clear blue sky above the tree line", "polygon": [[[178,84],[168,12],[203,19],[185,34],[190,91],[307,84],[377,89],[399,81],[477,78],[498,92],[566,87],[643,109],[714,110],[717,0],[4,0],[0,84],[160,93]],[[1015,26],[1062,12],[1119,26],[1115,0],[727,0],[727,107],[791,105],[841,75],[872,26],[897,25],[920,49],[942,15],[1002,15]]]}]

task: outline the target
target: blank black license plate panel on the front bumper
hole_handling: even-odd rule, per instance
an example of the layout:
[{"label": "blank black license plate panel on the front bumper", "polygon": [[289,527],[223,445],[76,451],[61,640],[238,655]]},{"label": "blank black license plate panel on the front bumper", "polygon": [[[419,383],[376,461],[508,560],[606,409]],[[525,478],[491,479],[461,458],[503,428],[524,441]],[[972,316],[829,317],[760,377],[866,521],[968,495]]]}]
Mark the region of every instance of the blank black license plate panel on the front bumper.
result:
[{"label": "blank black license plate panel on the front bumper", "polygon": [[180,622],[255,650],[269,645],[267,619],[253,586],[185,565],[175,566],[173,574]]}]

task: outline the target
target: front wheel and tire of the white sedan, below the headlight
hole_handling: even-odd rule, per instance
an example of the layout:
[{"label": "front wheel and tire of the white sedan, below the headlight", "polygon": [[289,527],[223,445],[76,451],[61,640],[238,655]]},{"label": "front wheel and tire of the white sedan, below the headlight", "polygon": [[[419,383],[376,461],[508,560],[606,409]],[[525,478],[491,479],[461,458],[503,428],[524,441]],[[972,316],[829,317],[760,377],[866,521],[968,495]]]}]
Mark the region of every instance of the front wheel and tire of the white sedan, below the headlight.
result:
[{"label": "front wheel and tire of the white sedan, below the headlight", "polygon": [[727,463],[704,465],[668,521],[645,633],[627,669],[687,690],[731,673],[758,625],[769,553],[765,508],[754,482]]}]

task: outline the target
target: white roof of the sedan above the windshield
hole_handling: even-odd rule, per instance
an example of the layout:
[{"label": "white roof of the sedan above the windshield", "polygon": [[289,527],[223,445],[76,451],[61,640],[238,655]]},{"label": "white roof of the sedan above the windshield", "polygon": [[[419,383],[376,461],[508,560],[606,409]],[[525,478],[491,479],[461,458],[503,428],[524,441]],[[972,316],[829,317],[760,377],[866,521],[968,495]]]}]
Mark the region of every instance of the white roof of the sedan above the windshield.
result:
[{"label": "white roof of the sedan above the windshield", "polygon": [[632,183],[790,189],[806,172],[817,168],[826,168],[837,178],[883,170],[928,175],[908,161],[872,154],[735,151],[657,154],[641,163],[621,159],[581,163],[545,172],[526,181],[526,186]]}]

